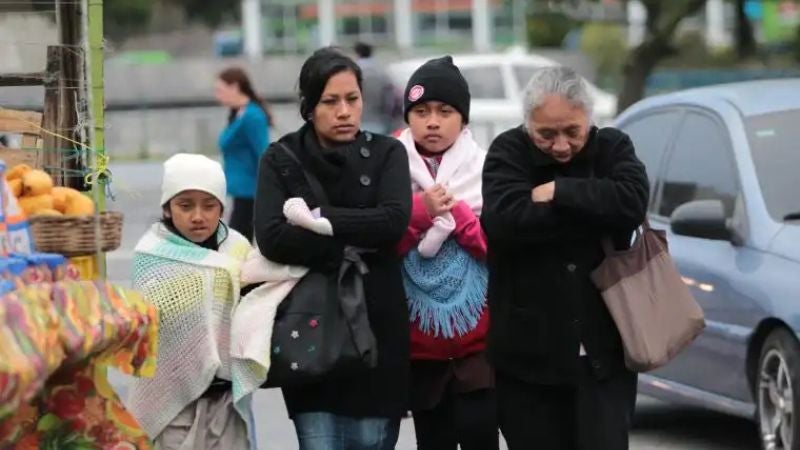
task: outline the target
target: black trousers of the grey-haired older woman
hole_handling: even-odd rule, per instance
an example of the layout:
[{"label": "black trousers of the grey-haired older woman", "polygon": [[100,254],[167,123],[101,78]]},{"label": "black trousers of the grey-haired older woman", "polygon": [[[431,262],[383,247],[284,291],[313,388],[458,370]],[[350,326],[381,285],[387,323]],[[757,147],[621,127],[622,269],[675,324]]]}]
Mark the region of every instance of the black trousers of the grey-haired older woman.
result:
[{"label": "black trousers of the grey-haired older woman", "polygon": [[636,374],[597,380],[584,363],[575,385],[534,385],[497,373],[500,429],[509,450],[628,449]]}]

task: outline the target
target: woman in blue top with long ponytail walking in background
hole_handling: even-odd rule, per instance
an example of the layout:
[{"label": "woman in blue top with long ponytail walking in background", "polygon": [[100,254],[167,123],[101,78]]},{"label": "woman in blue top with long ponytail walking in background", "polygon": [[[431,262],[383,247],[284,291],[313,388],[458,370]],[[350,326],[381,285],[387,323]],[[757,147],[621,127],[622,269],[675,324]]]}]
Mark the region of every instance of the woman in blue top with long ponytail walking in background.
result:
[{"label": "woman in blue top with long ponytail walking in background", "polygon": [[238,67],[219,74],[214,94],[230,108],[228,125],[219,136],[228,195],[233,197],[230,226],[252,240],[258,161],[269,144],[272,116],[250,78]]}]

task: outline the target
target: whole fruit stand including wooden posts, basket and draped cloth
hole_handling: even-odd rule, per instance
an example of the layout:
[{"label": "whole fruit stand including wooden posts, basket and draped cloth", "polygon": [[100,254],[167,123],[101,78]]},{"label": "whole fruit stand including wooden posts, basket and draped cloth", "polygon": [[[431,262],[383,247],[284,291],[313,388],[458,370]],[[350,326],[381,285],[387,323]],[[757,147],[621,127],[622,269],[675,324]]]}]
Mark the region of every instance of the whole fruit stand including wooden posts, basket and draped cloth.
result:
[{"label": "whole fruit stand including wooden posts, basket and draped cloth", "polygon": [[154,375],[158,317],[102,279],[123,222],[105,211],[103,0],[54,5],[45,71],[0,74],[45,92],[41,113],[0,107],[21,137],[0,146],[0,450],[147,450],[107,378]]}]

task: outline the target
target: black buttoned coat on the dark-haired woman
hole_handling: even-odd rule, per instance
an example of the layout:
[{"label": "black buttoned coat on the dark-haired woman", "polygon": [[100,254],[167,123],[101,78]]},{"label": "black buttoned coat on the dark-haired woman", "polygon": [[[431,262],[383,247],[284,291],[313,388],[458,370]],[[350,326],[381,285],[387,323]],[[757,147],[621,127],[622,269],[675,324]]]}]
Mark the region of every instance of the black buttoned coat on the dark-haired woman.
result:
[{"label": "black buttoned coat on the dark-haired woman", "polygon": [[310,124],[280,142],[322,184],[330,205],[322,205],[320,213],[333,225],[334,236],[286,222],[287,199],[302,197],[311,209],[320,205],[298,164],[272,144],[261,160],[255,198],[255,235],[264,256],[277,263],[336,271],[345,245],[377,250],[363,259],[369,267],[364,289],[378,367],[361,376],[284,389],[289,413],[397,417],[406,406],[409,379],[409,316],[396,251],[411,213],[406,150],[391,137],[363,132],[350,144],[324,149]]}]

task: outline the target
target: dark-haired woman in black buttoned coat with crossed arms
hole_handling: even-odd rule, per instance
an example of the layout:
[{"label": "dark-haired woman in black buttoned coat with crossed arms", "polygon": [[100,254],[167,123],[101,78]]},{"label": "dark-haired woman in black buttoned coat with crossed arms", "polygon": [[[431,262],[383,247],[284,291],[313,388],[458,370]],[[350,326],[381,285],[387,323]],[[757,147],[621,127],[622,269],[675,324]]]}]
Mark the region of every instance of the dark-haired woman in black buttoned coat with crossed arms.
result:
[{"label": "dark-haired woman in black buttoned coat with crossed arms", "polygon": [[[256,240],[267,259],[331,272],[340,267],[345,246],[376,250],[363,259],[378,365],[346,378],[284,388],[286,406],[301,450],[393,449],[409,360],[408,309],[395,250],[411,211],[406,151],[393,138],[360,131],[361,71],[339,51],[315,52],[303,65],[299,88],[305,125],[271,145],[261,160]],[[318,204],[282,145],[319,179],[330,206]],[[305,227],[287,222],[289,199],[308,205],[293,221]]]}]

